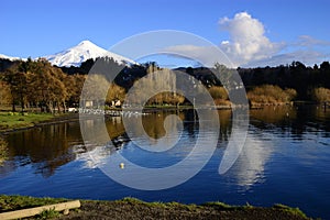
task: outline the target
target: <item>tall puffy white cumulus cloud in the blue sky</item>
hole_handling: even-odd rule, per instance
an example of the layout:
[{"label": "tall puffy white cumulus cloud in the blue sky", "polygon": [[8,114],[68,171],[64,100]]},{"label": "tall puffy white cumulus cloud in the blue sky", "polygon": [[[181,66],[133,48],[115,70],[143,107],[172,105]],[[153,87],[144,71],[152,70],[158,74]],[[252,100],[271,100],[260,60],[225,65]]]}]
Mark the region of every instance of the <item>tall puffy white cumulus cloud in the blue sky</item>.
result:
[{"label": "tall puffy white cumulus cloud in the blue sky", "polygon": [[263,23],[248,12],[237,13],[233,19],[222,18],[219,25],[230,34],[230,41],[222,41],[220,48],[238,66],[272,57],[284,46],[271,42],[265,36]]}]

